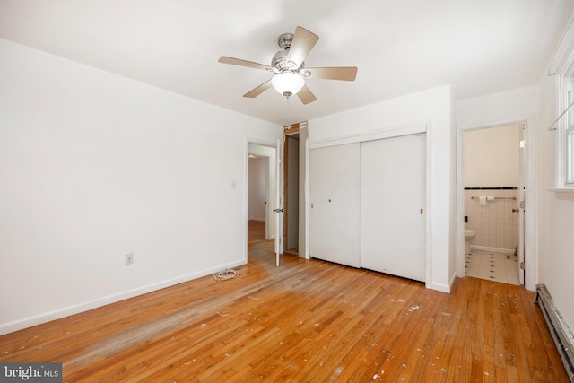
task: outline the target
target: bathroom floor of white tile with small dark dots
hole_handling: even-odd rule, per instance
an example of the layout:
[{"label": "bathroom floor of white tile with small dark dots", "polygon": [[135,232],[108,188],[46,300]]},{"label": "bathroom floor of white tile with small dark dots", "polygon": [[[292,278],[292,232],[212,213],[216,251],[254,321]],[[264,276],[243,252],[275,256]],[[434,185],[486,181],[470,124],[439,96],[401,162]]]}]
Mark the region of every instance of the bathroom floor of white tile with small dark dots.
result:
[{"label": "bathroom floor of white tile with small dark dots", "polygon": [[465,275],[501,283],[520,284],[518,261],[512,254],[473,250],[465,255]]}]

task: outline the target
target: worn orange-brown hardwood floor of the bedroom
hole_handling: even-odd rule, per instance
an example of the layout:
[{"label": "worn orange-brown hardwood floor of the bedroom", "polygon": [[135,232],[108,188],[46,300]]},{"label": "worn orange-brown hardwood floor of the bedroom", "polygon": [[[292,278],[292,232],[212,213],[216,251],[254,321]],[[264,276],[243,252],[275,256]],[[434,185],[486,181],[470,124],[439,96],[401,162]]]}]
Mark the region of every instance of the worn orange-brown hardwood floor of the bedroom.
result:
[{"label": "worn orange-brown hardwood floor of the bedroom", "polygon": [[64,381],[566,382],[519,286],[446,294],[283,256],[249,240],[239,277],[206,276],[0,337],[0,361],[60,361]]}]

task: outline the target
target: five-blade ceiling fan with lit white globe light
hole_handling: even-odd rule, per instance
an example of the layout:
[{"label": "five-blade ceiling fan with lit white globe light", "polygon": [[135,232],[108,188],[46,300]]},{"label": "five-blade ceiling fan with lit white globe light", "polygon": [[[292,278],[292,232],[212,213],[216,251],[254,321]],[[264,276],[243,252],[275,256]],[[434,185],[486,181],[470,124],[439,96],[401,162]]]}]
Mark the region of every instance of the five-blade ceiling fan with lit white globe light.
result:
[{"label": "five-blade ceiling fan with lit white globe light", "polygon": [[354,81],[357,76],[356,66],[306,68],[303,60],[309,55],[311,49],[315,47],[318,39],[319,37],[315,33],[305,28],[297,27],[294,34],[283,33],[279,36],[277,44],[283,50],[274,55],[271,65],[258,64],[227,56],[220,57],[218,61],[223,64],[264,69],[274,74],[270,80],[257,86],[252,91],[248,91],[243,97],[255,98],[273,86],[276,91],[286,98],[297,94],[301,102],[306,105],[317,100],[317,97],[307,87],[305,79]]}]

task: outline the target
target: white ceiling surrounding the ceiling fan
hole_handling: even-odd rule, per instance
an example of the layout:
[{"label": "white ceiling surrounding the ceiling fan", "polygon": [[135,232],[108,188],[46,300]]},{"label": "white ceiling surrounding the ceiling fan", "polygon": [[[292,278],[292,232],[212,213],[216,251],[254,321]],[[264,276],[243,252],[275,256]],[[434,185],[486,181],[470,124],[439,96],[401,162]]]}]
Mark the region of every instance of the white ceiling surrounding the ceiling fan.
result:
[{"label": "white ceiling surrounding the ceiling fan", "polygon": [[[0,0],[0,38],[279,125],[450,83],[458,100],[540,82],[574,0]],[[276,39],[319,36],[306,66],[358,66],[355,82],[308,80],[302,105],[273,89]]]}]

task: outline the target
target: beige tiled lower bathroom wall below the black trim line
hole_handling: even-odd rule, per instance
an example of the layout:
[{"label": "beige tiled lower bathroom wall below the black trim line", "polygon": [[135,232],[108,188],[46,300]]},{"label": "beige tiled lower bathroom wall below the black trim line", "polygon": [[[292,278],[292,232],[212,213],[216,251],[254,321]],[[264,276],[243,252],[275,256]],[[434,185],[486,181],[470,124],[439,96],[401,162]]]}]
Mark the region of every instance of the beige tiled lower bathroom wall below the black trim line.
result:
[{"label": "beige tiled lower bathroom wall below the black trim line", "polygon": [[[480,205],[479,196],[514,196],[516,200],[495,199]],[[517,209],[518,203],[517,187],[465,188],[465,229],[476,233],[471,245],[514,251],[518,245],[518,213],[512,209]]]}]

